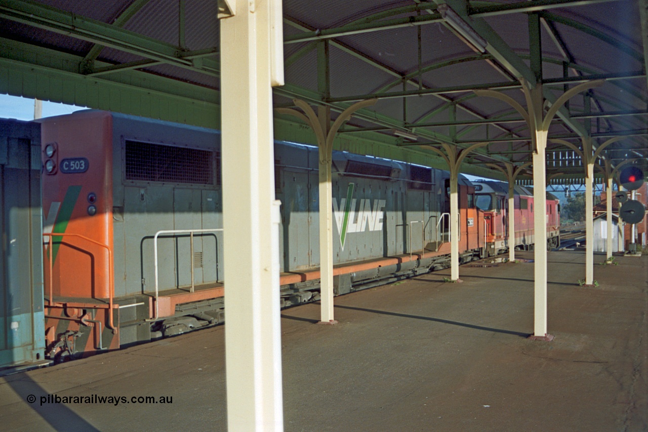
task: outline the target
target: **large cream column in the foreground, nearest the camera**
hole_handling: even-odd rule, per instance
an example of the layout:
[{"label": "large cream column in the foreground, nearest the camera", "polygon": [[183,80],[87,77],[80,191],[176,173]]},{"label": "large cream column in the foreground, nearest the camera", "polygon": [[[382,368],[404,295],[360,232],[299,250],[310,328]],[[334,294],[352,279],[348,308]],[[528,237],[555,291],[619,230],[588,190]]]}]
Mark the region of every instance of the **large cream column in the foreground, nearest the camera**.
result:
[{"label": "large cream column in the foreground, nearest the camera", "polygon": [[281,431],[279,208],[270,88],[270,8],[277,4],[227,3],[235,12],[220,20],[227,427]]}]

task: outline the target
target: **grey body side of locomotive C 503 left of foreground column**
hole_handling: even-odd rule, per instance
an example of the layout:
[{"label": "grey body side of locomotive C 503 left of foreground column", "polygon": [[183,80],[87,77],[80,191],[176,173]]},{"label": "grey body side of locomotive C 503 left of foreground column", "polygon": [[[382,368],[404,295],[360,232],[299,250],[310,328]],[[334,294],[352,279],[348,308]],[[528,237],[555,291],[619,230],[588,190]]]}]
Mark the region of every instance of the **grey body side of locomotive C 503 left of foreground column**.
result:
[{"label": "grey body side of locomotive C 503 left of foreground column", "polygon": [[[115,296],[155,290],[159,230],[222,228],[220,134],[194,126],[113,115]],[[118,161],[118,162],[117,162]],[[117,243],[119,242],[119,243]],[[222,280],[222,232],[161,234],[158,289]],[[136,257],[136,258],[133,258]]]}]

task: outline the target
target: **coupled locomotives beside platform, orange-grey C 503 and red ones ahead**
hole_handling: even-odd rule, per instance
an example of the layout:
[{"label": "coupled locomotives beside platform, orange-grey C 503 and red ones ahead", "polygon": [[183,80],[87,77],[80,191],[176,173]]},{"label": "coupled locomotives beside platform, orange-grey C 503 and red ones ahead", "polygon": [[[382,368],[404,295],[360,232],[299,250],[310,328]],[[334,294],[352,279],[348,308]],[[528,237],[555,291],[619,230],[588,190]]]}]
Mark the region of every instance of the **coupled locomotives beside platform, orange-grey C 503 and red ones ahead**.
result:
[{"label": "coupled locomotives beside platform, orange-grey C 503 and red ones ahead", "polygon": [[[41,120],[45,351],[115,350],[224,321],[220,133],[109,112]],[[226,163],[226,162],[224,162]],[[447,171],[334,152],[334,291],[450,265]],[[533,247],[516,187],[459,178],[460,262]],[[318,300],[318,150],[275,142],[283,307]],[[548,199],[548,247],[559,213]],[[250,245],[254,247],[254,245]],[[236,259],[236,257],[227,257]]]}]

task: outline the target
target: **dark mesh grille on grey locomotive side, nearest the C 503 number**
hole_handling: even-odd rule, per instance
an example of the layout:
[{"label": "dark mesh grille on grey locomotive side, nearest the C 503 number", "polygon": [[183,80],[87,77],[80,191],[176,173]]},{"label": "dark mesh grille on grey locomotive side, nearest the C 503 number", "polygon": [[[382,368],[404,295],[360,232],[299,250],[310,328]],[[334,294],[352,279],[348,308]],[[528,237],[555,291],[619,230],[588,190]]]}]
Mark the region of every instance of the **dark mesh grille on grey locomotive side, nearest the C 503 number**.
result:
[{"label": "dark mesh grille on grey locomotive side, nearest the C 503 number", "polygon": [[125,178],[145,182],[214,184],[214,152],[126,141]]}]

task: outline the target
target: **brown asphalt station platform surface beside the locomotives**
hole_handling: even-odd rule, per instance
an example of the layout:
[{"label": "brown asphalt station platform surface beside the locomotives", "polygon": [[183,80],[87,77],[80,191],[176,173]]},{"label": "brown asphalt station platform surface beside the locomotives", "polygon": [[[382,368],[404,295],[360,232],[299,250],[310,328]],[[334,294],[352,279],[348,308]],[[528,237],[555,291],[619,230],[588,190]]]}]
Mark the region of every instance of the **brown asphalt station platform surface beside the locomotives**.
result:
[{"label": "brown asphalt station platform surface beside the locomotives", "polygon": [[[444,283],[446,269],[338,297],[336,326],[312,324],[317,304],[284,310],[285,430],[648,430],[648,256],[596,265],[593,288],[577,283],[584,259],[548,254],[552,342],[526,339],[526,262],[477,261],[461,267],[463,283]],[[48,394],[129,403],[41,405]],[[140,396],[172,404],[130,402]],[[221,326],[0,379],[0,424],[223,431],[225,397]]]}]

